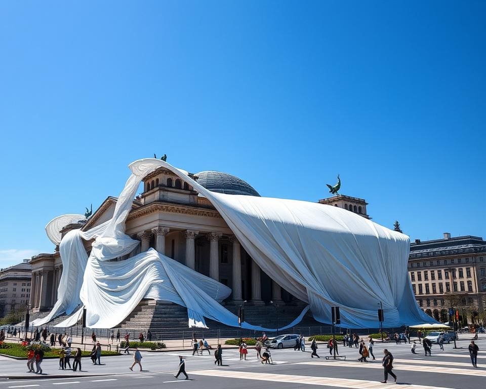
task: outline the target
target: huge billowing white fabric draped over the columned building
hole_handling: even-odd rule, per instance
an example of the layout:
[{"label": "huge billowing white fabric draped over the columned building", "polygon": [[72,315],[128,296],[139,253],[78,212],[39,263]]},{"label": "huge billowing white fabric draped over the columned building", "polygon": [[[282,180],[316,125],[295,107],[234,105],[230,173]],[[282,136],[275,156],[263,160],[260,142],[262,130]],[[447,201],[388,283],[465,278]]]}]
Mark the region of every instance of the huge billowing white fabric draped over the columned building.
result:
[{"label": "huge billowing white fabric draped over the columned building", "polygon": [[[330,323],[330,307],[340,306],[342,326],[377,327],[377,308],[382,302],[384,326],[430,321],[418,308],[408,278],[407,236],[338,207],[211,192],[187,172],[164,161],[145,159],[130,165],[133,174],[110,220],[88,231],[70,231],[62,239],[64,270],[58,301],[50,315],[34,325],[71,314],[83,303],[89,327],[113,327],[142,298],[186,306],[189,325],[204,327],[205,317],[237,325],[236,317],[219,304],[230,290],[169,257],[149,250],[108,262],[138,245],[125,234],[125,220],[141,180],[159,167],[171,170],[205,196],[262,270],[308,302],[316,320]],[[88,258],[82,239],[93,238]],[[247,323],[244,327],[256,328]]]}]

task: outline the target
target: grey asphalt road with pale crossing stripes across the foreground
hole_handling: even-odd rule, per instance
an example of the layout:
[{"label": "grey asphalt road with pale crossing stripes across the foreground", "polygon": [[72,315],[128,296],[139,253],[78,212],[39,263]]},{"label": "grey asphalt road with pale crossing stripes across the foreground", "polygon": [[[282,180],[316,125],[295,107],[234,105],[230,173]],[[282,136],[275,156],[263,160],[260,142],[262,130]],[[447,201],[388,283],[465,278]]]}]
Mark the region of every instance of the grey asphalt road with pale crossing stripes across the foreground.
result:
[{"label": "grey asphalt road with pale crossing stripes across the foreground", "polygon": [[[417,346],[418,355],[410,352],[409,344],[377,343],[374,348],[376,361],[360,363],[356,348],[339,347],[341,355],[346,355],[346,361],[311,359],[309,344],[307,352],[293,349],[273,350],[273,365],[262,365],[256,359],[253,349],[249,351],[247,361],[240,361],[237,349],[223,351],[223,367],[214,365],[213,352],[203,356],[192,356],[190,351],[167,351],[164,353],[142,352],[143,371],[131,372],[128,367],[133,362],[133,356],[116,356],[102,358],[101,366],[91,365],[90,360],[83,359],[83,372],[72,376],[73,372],[58,370],[58,360],[45,360],[44,379],[25,373],[25,361],[11,360],[0,357],[0,376],[23,374],[22,379],[1,379],[0,389],[32,387],[34,389],[55,389],[56,385],[73,387],[75,389],[103,387],[113,389],[132,389],[134,385],[143,387],[184,387],[232,389],[250,387],[265,387],[266,389],[286,389],[296,387],[327,387],[327,388],[360,388],[383,389],[388,384],[381,384],[383,368],[381,358],[383,348],[388,348],[394,360],[394,372],[398,376],[399,387],[406,389],[478,389],[486,382],[486,338],[479,338],[477,344],[480,352],[478,369],[473,369],[467,346],[469,339],[462,336],[454,343],[444,345],[445,351],[440,352],[438,346],[432,347],[432,356],[425,357],[423,348]],[[329,355],[325,345],[320,345],[318,354],[321,357]],[[189,380],[173,374],[178,368],[178,356],[186,359],[186,371]],[[135,367],[135,370],[138,366]],[[75,374],[75,373],[74,373]],[[61,378],[52,378],[61,376]],[[393,380],[389,381],[393,382]]]}]

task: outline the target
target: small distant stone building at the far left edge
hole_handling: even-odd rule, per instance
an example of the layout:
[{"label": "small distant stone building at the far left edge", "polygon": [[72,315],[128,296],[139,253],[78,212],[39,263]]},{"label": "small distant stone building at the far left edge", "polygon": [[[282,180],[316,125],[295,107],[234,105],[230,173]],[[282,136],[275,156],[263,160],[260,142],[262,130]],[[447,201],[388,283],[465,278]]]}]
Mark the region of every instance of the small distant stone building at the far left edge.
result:
[{"label": "small distant stone building at the far left edge", "polygon": [[0,269],[0,318],[11,310],[21,309],[30,298],[31,266],[28,259]]}]

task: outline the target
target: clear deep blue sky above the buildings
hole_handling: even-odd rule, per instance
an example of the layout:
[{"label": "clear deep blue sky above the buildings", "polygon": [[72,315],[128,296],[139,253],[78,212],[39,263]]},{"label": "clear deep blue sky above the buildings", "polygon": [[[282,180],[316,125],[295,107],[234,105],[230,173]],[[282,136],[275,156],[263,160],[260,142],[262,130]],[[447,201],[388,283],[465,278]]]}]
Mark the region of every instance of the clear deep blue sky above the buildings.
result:
[{"label": "clear deep blue sky above the buildings", "polygon": [[486,238],[486,2],[0,3],[0,266],[167,153],[263,196],[342,178],[411,239]]}]

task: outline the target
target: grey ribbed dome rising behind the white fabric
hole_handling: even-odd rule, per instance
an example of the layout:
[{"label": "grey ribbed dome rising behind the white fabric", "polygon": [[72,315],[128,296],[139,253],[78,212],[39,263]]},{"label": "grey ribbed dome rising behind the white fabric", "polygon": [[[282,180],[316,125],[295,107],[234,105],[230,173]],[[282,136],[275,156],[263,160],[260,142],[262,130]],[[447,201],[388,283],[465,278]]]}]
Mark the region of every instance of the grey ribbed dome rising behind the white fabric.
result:
[{"label": "grey ribbed dome rising behind the white fabric", "polygon": [[209,170],[194,175],[198,177],[198,184],[212,192],[226,193],[227,195],[260,196],[248,182],[231,174]]}]

